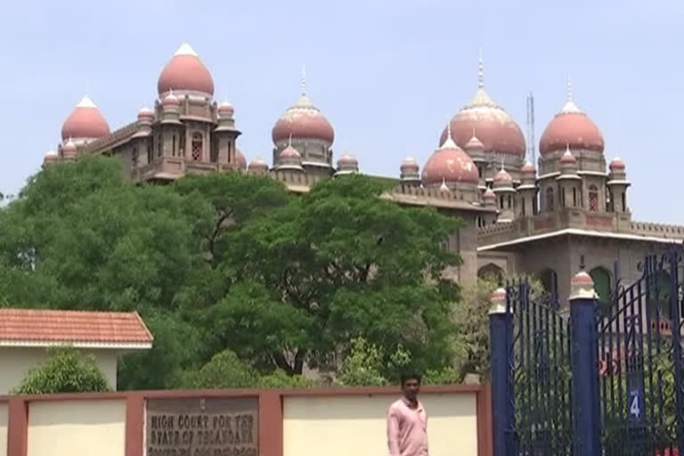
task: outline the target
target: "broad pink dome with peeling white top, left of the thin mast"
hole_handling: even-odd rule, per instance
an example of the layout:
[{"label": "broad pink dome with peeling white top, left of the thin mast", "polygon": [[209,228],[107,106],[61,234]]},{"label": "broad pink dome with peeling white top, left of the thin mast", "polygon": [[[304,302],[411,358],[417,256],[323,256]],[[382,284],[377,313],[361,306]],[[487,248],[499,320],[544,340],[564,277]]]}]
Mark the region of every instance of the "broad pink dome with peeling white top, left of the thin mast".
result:
[{"label": "broad pink dome with peeling white top, left of the thin mast", "polygon": [[[466,149],[468,142],[477,132],[485,151],[496,151],[511,155],[525,155],[525,137],[520,127],[485,92],[481,86],[475,97],[466,107],[461,109],[451,120],[452,137],[461,148]],[[446,139],[446,128],[440,137],[440,143]]]}]

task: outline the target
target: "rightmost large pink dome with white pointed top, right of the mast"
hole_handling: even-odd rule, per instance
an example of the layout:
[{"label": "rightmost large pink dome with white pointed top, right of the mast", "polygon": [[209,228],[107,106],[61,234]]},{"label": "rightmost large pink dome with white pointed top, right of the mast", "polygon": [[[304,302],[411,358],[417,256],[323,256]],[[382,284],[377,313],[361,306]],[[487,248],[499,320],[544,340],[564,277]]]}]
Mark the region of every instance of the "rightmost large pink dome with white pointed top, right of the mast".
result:
[{"label": "rightmost large pink dome with white pointed top, right of the mast", "polygon": [[551,119],[544,130],[539,142],[539,151],[546,155],[553,151],[561,151],[568,145],[573,150],[597,152],[603,152],[605,147],[599,128],[574,104],[569,87],[566,105]]}]

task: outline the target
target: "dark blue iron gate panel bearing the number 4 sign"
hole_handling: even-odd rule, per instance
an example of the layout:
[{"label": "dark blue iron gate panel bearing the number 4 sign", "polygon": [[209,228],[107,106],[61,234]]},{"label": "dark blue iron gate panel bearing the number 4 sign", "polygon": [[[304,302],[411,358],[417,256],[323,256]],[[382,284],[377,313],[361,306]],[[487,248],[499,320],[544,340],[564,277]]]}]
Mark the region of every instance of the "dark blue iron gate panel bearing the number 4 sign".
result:
[{"label": "dark blue iron gate panel bearing the number 4 sign", "polygon": [[[684,456],[680,248],[616,281],[599,312],[599,396],[606,456]],[[615,267],[615,277],[620,277]]]}]

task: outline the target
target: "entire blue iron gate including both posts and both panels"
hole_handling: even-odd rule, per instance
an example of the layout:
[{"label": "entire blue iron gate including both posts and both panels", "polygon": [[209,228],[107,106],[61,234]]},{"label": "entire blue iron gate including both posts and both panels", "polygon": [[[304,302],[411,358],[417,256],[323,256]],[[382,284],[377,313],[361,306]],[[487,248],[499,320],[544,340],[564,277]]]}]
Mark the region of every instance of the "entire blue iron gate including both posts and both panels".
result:
[{"label": "entire blue iron gate including both posts and both panels", "polygon": [[605,307],[587,273],[568,305],[527,281],[497,290],[494,456],[684,456],[684,250],[638,267]]}]

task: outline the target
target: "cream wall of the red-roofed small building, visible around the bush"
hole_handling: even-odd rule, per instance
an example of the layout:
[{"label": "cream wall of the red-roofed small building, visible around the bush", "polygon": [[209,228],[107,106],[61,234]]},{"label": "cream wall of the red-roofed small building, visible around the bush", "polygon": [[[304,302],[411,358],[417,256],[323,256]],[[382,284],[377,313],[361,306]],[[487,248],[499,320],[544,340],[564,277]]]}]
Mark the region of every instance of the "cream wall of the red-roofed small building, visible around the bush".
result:
[{"label": "cream wall of the red-roofed small building, visible around the bush", "polygon": [[[118,350],[92,349],[83,350],[84,353],[94,354],[95,363],[104,373],[110,388],[117,389],[117,359]],[[20,384],[28,370],[47,359],[45,347],[0,347],[0,395],[7,395]]]}]

